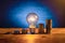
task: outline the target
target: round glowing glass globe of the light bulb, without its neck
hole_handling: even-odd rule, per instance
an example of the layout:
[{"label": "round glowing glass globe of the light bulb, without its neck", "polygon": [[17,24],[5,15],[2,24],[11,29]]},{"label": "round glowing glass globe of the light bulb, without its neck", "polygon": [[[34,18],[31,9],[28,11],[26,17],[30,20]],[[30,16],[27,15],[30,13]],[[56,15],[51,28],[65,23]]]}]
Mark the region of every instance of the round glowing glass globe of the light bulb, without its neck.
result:
[{"label": "round glowing glass globe of the light bulb, without its neck", "polygon": [[35,24],[38,22],[38,15],[35,13],[29,13],[26,17],[28,24]]}]

